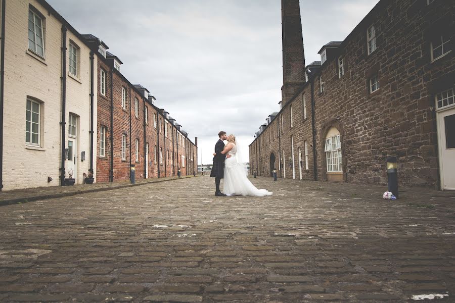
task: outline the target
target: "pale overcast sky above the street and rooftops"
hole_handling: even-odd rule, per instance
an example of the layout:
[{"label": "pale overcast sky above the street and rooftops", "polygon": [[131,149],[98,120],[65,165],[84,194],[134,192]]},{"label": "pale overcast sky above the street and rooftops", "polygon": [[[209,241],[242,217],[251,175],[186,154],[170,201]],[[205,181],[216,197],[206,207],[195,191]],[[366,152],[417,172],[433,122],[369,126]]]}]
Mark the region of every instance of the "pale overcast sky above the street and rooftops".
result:
[{"label": "pale overcast sky above the street and rooftops", "polygon": [[[244,146],[272,112],[283,85],[279,0],[48,0],[79,33],[91,33],[147,87],[211,163],[219,130]],[[306,64],[343,40],[378,0],[302,0]]]}]

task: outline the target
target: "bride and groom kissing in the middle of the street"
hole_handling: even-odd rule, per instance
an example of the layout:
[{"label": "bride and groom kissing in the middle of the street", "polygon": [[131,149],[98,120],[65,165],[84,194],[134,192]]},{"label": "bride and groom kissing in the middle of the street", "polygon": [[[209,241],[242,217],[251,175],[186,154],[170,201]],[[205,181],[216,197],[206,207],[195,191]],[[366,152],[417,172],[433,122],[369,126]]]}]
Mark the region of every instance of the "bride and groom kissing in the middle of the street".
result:
[{"label": "bride and groom kissing in the middle of the street", "polygon": [[[272,192],[265,189],[257,189],[248,180],[248,169],[246,163],[241,161],[241,151],[236,142],[236,136],[226,135],[225,131],[218,133],[219,140],[215,144],[215,153],[213,154],[213,167],[210,177],[215,178],[215,195],[216,196],[266,196]],[[228,143],[224,145],[223,140]],[[219,189],[219,183],[224,179],[224,193]]]}]

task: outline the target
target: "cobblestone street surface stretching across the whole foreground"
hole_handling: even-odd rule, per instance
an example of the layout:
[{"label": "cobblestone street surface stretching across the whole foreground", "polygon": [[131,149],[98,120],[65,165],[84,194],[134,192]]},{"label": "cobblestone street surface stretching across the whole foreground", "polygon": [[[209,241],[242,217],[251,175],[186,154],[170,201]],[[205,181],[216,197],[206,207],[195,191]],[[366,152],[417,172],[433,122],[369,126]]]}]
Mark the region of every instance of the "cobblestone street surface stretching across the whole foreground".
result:
[{"label": "cobblestone street surface stretching across the whole foreground", "polygon": [[455,301],[454,192],[251,180],[274,195],[204,176],[1,207],[0,301]]}]

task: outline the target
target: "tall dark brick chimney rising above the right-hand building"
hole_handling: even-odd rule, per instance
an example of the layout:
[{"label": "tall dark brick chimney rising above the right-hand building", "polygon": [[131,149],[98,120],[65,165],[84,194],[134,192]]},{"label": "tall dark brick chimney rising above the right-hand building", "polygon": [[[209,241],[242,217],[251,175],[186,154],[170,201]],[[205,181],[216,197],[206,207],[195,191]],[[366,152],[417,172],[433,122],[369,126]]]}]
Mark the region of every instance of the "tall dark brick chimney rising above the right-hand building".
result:
[{"label": "tall dark brick chimney rising above the right-hand building", "polygon": [[305,83],[305,54],[303,52],[302,21],[299,0],[281,0],[283,36],[283,106]]}]

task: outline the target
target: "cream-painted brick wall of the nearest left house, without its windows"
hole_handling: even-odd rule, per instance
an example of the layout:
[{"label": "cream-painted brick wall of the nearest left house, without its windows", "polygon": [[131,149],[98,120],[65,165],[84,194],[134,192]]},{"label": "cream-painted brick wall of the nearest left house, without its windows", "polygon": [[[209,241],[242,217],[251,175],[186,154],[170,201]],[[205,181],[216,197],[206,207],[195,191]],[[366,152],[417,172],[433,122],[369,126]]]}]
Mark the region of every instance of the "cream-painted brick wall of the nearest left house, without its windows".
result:
[{"label": "cream-painted brick wall of the nearest left house, without its windows", "polygon": [[[36,59],[37,56],[33,56],[28,51],[29,4],[45,17],[45,60]],[[34,0],[7,0],[5,22],[4,190],[56,186],[59,185],[61,159],[62,24]],[[70,112],[80,117],[78,121],[77,182],[82,183],[82,173],[88,172],[89,165],[89,49],[70,31],[67,32],[67,39],[67,42],[72,39],[80,47],[81,55],[80,79],[76,81],[67,76],[66,122],[68,123]],[[95,66],[96,60],[95,56]],[[97,89],[96,85],[95,89]],[[25,144],[27,96],[43,103],[40,146],[42,150],[27,148]],[[94,107],[96,111],[96,97]],[[96,119],[96,112],[94,117]],[[96,120],[94,125],[96,126]],[[65,132],[68,138],[68,124]],[[67,140],[64,143],[67,146]],[[94,136],[94,146],[96,146],[96,135]],[[80,162],[80,151],[82,150],[85,151],[86,160],[84,162]],[[96,148],[94,148],[94,153],[94,170],[96,172]],[[48,176],[52,177],[53,181],[48,183]]]}]

